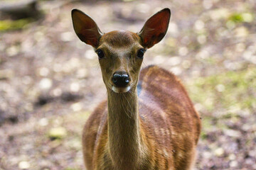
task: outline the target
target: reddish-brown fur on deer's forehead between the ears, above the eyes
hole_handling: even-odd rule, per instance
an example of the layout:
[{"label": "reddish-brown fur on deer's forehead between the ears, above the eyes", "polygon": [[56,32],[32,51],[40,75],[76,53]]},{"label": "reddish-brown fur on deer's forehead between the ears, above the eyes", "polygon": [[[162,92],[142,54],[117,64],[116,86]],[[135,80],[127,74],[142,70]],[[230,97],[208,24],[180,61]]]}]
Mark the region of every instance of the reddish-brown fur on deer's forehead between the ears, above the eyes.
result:
[{"label": "reddish-brown fur on deer's forehead between the ears, above the eyes", "polygon": [[105,42],[112,47],[127,47],[134,42],[139,42],[139,35],[128,30],[114,30],[102,35],[100,42]]}]

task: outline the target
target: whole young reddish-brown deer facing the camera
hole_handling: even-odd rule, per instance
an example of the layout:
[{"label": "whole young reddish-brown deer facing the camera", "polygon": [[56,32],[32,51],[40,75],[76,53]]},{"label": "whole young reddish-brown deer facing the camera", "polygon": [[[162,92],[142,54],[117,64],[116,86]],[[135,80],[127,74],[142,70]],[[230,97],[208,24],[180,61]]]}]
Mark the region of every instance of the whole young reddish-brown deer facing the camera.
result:
[{"label": "whole young reddish-brown deer facing the camera", "polygon": [[139,33],[104,34],[73,9],[75,33],[94,47],[107,89],[107,101],[82,132],[87,170],[191,169],[201,131],[193,103],[174,74],[157,66],[140,72],[144,52],[164,38],[170,16],[164,8]]}]

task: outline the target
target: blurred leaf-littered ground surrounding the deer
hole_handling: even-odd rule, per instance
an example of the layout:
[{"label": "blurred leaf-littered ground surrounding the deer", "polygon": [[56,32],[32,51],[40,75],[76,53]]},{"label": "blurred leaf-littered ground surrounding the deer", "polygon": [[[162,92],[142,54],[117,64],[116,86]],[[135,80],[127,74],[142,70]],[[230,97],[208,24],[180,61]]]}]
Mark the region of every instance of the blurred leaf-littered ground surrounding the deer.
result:
[{"label": "blurred leaf-littered ground surrounding the deer", "polygon": [[82,127],[106,90],[72,8],[107,33],[138,32],[166,7],[168,33],[142,67],[174,72],[201,114],[195,169],[256,169],[255,0],[1,0],[0,169],[85,169]]}]

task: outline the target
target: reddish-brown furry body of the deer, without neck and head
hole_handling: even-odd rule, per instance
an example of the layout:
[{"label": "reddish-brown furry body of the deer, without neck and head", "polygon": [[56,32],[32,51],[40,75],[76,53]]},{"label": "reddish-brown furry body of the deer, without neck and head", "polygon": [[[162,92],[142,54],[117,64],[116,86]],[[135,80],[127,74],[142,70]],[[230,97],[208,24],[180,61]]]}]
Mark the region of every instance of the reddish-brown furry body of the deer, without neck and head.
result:
[{"label": "reddish-brown furry body of the deer, without neck and head", "polygon": [[[164,69],[146,67],[139,77],[138,93],[139,127],[146,149],[142,149],[145,153],[137,169],[190,169],[201,123],[181,82]],[[83,131],[88,170],[113,169],[107,148],[107,126],[107,102],[104,101],[87,120]],[[91,155],[87,154],[89,151]],[[124,153],[124,159],[131,158]]]}]

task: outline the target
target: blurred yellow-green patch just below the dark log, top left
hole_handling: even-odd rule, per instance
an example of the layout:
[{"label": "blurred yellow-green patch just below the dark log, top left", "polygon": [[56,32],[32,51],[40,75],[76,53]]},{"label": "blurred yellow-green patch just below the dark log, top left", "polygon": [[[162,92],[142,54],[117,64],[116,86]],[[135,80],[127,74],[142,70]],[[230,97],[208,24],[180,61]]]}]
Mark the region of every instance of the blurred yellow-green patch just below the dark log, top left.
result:
[{"label": "blurred yellow-green patch just below the dark log, top left", "polygon": [[0,21],[0,31],[19,30],[28,26],[29,23],[31,23],[30,18],[19,19],[16,21],[3,20]]}]

